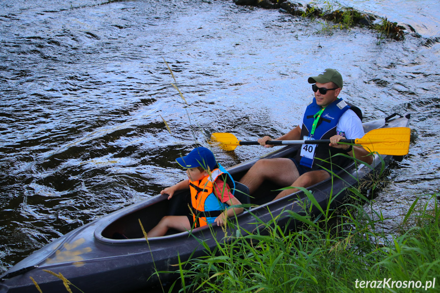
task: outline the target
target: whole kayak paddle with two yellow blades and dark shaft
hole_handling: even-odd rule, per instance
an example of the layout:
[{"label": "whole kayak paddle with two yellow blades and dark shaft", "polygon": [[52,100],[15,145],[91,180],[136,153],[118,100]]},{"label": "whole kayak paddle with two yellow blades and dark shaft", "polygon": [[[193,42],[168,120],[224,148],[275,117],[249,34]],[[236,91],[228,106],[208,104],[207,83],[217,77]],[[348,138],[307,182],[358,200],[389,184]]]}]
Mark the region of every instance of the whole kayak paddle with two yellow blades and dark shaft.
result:
[{"label": "whole kayak paddle with two yellow blades and dark shaft", "polygon": [[[409,137],[411,130],[408,127],[377,128],[367,132],[363,138],[354,140],[341,140],[363,146],[369,152],[385,155],[405,155],[409,151]],[[239,145],[259,145],[256,141],[239,141],[233,134],[215,132],[211,140],[219,142],[224,150],[235,150]],[[298,140],[298,141],[267,141],[269,145],[296,145],[296,144],[329,144],[330,140]]]}]

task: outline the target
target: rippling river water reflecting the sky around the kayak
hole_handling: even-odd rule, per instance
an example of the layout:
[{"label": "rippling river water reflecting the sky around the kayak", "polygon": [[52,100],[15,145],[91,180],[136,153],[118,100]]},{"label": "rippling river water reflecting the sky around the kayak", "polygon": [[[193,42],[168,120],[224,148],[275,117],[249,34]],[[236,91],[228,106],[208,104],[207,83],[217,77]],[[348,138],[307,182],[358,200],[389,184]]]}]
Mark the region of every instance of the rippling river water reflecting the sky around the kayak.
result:
[{"label": "rippling river water reflecting the sky around the kayak", "polygon": [[[184,179],[175,157],[208,146],[212,132],[255,140],[290,130],[312,97],[307,77],[328,67],[365,120],[411,113],[409,154],[375,207],[396,219],[436,193],[438,2],[349,4],[406,25],[405,40],[229,0],[1,0],[0,273]],[[213,147],[226,167],[266,150]]]}]

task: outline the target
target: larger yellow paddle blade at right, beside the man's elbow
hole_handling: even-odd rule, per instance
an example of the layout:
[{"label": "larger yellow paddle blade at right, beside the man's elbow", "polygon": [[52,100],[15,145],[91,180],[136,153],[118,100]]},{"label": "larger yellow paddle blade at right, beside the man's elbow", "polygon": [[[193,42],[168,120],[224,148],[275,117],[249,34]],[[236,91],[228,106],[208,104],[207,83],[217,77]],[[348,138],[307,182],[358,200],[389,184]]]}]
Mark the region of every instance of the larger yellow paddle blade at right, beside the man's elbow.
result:
[{"label": "larger yellow paddle blade at right, beside the man's elbow", "polygon": [[409,152],[410,136],[411,129],[408,127],[377,128],[356,139],[355,144],[379,154],[405,155]]}]

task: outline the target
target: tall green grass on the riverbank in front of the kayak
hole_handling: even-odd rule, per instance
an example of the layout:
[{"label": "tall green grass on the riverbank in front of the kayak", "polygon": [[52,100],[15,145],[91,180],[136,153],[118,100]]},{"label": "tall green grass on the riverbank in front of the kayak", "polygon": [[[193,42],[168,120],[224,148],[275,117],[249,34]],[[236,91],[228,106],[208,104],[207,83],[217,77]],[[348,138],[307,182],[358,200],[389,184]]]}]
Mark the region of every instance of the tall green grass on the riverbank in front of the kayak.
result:
[{"label": "tall green grass on the riverbank in front of the kayak", "polygon": [[440,280],[434,278],[440,275],[440,211],[435,196],[424,203],[416,200],[394,235],[380,228],[380,212],[359,204],[363,196],[357,190],[353,198],[338,212],[324,210],[319,219],[291,214],[304,222],[297,231],[283,230],[274,219],[267,235],[226,235],[229,243],[218,243],[208,256],[189,261],[189,269],[181,270],[185,278],[180,291],[438,290]]}]

